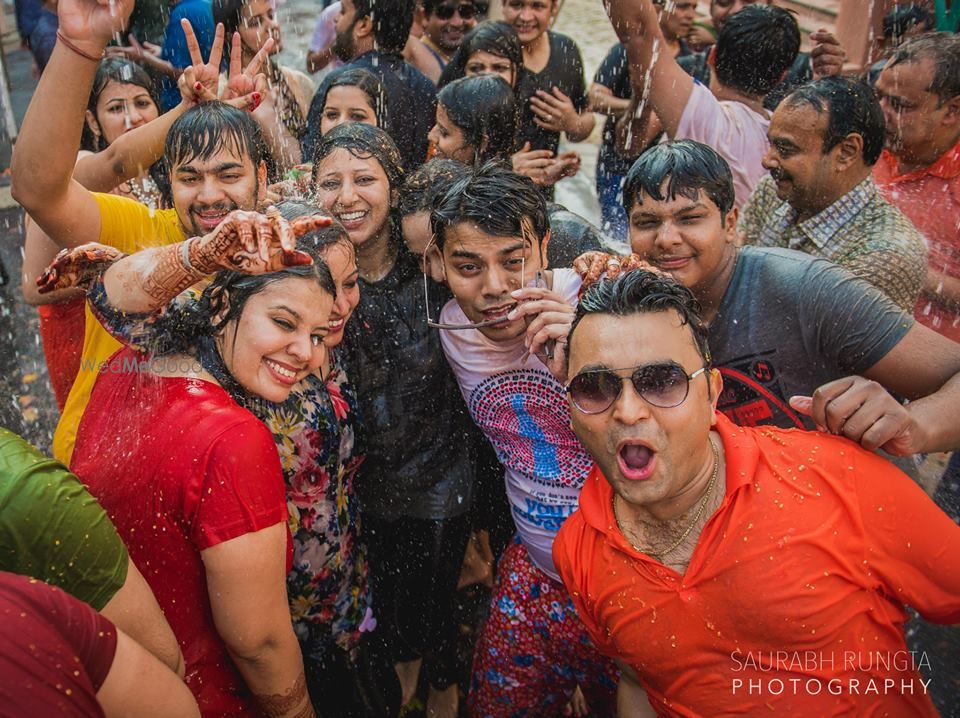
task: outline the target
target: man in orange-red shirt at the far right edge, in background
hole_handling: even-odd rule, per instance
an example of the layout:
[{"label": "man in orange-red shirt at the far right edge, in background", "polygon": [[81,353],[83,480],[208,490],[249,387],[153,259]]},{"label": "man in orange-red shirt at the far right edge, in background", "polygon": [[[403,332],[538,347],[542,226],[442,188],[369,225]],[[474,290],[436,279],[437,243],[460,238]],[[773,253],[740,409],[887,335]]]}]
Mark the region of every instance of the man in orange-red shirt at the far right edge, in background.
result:
[{"label": "man in orange-red shirt at the far right edge, in background", "polygon": [[960,341],[960,36],[930,33],[901,45],[877,94],[887,135],[874,179],[928,244],[917,321]]}]

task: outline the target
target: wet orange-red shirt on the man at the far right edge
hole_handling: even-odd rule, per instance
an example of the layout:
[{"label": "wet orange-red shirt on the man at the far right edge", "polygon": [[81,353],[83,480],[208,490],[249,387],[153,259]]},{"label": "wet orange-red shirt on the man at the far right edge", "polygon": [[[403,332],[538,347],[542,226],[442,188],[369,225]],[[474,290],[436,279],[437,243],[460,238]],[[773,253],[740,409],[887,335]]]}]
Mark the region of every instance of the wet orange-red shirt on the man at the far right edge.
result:
[{"label": "wet orange-red shirt on the man at the far right edge", "polygon": [[[884,150],[873,178],[927,240],[927,265],[960,279],[960,141],[929,167],[900,174],[899,163]],[[960,341],[960,317],[944,304],[920,295],[914,315],[921,324]]]}]

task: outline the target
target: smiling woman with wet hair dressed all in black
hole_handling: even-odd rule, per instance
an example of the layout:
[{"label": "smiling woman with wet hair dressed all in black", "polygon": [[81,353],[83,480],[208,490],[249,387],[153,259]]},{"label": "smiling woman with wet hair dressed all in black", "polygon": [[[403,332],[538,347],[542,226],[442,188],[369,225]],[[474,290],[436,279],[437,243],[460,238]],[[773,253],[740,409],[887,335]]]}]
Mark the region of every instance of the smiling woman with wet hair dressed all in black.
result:
[{"label": "smiling woman with wet hair dressed all in black", "polygon": [[473,427],[427,324],[449,295],[429,280],[425,287],[402,241],[402,178],[393,141],[366,124],[330,130],[313,158],[316,201],[343,222],[360,269],[360,305],[344,346],[367,425],[357,491],[378,620],[404,702],[422,660],[428,710],[449,715],[457,705],[452,606],[470,531]]}]

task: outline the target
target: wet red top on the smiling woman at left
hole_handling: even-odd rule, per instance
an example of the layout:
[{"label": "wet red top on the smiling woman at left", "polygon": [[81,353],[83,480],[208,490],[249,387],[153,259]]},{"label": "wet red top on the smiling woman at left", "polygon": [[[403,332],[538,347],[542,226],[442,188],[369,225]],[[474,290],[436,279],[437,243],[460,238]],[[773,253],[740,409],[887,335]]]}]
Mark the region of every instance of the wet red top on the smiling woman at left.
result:
[{"label": "wet red top on the smiling woman at left", "polygon": [[200,552],[287,520],[276,444],[216,384],[138,371],[145,357],[123,349],[98,377],[71,468],[153,589],[203,715],[259,716],[214,625]]}]

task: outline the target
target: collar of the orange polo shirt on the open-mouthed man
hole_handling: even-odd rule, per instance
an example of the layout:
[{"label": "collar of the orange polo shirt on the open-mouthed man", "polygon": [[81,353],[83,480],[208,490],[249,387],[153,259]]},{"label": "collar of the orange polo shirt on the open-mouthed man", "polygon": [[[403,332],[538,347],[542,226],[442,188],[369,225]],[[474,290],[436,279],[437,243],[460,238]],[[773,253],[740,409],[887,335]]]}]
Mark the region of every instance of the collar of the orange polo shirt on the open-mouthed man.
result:
[{"label": "collar of the orange polo shirt on the open-mouthed man", "polygon": [[[716,417],[716,430],[723,442],[724,458],[727,463],[727,494],[719,509],[724,511],[740,489],[753,482],[760,450],[754,438],[742,427],[734,424],[720,412],[717,412]],[[760,430],[762,431],[762,428]],[[604,534],[611,544],[627,553],[648,558],[634,549],[620,533],[613,515],[613,488],[596,464],[593,465],[580,492],[580,511],[587,524]]]}]

